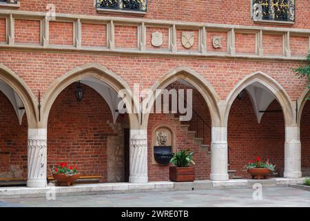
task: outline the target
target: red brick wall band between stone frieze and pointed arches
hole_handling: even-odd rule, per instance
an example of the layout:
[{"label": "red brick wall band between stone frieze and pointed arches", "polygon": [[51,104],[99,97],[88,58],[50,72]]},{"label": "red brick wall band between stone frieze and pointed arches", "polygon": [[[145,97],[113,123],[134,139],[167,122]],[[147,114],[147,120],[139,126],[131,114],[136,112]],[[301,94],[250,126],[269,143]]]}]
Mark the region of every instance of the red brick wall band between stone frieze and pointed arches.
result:
[{"label": "red brick wall band between stone frieze and pointed arches", "polygon": [[256,71],[262,71],[276,79],[293,100],[300,97],[306,82],[306,79],[299,80],[291,72],[291,68],[300,65],[297,61],[245,61],[36,51],[0,51],[0,60],[3,65],[23,78],[35,95],[38,95],[37,90],[41,90],[41,94],[45,93],[57,77],[76,66],[89,63],[109,68],[127,81],[132,88],[135,83],[150,88],[169,70],[188,67],[205,77],[221,99],[226,99],[228,93],[241,79]]}]

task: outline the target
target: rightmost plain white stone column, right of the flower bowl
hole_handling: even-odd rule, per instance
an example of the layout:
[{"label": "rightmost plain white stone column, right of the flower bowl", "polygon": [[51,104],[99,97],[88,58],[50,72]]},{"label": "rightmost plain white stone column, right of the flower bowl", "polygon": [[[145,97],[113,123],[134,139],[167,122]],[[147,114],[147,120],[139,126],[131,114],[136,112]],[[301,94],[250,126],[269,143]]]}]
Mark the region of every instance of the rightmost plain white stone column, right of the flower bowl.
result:
[{"label": "rightmost plain white stone column, right of the flower bowl", "polygon": [[285,128],[285,171],[284,177],[300,178],[301,173],[301,144],[300,128],[298,126]]}]

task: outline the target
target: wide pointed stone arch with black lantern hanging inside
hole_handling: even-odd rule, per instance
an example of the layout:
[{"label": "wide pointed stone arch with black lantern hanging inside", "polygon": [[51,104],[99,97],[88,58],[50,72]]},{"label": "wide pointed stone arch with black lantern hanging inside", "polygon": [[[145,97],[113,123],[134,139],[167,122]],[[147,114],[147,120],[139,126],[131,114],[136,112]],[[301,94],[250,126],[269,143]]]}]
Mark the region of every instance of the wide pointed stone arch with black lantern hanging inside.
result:
[{"label": "wide pointed stone arch with black lantern hanging inside", "polygon": [[[70,70],[65,75],[56,79],[50,88],[46,90],[45,94],[42,97],[42,121],[41,124],[44,128],[46,128],[48,124],[48,115],[50,113],[50,109],[52,108],[52,104],[56,97],[70,84],[74,83],[75,81],[79,81],[84,79],[85,77],[94,77],[99,81],[103,81],[105,84],[110,86],[112,89],[118,93],[120,90],[126,90],[125,96],[123,100],[127,107],[131,107],[136,110],[137,102],[134,102],[134,97],[132,96],[132,90],[130,86],[124,81],[121,77],[116,75],[116,73],[112,72],[108,68],[101,66],[100,64],[85,64],[83,66],[76,67]],[[128,96],[130,95],[130,96]],[[138,124],[138,115],[135,114],[134,110],[128,114],[130,119],[131,126],[137,126]]]}]

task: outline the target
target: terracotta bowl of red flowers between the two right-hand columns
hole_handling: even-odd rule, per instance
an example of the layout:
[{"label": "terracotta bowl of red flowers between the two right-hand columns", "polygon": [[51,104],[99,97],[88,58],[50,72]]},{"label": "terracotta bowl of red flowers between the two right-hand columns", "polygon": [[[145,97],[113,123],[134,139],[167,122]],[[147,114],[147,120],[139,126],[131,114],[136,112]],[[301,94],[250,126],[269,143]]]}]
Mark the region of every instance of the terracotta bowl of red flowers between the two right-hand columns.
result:
[{"label": "terracotta bowl of red flowers between the two right-hand columns", "polygon": [[271,164],[269,160],[262,161],[260,157],[256,160],[250,160],[245,169],[251,175],[252,179],[266,179],[270,173],[274,172],[275,165]]}]

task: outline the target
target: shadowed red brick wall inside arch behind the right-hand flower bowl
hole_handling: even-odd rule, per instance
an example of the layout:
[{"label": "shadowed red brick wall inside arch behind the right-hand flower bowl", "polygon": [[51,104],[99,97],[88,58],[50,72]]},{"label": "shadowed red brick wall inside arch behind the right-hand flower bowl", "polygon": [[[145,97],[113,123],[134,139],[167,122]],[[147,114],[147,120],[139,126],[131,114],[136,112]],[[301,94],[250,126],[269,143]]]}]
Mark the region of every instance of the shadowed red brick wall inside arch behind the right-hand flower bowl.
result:
[{"label": "shadowed red brick wall inside arch behind the right-hand flower bowl", "polygon": [[[281,110],[273,101],[267,110]],[[247,93],[231,106],[228,122],[228,146],[231,169],[236,175],[249,177],[242,171],[249,160],[260,156],[276,164],[276,170],[284,166],[285,122],[282,112],[265,113],[258,124],[254,108]]]}]

